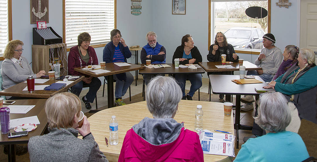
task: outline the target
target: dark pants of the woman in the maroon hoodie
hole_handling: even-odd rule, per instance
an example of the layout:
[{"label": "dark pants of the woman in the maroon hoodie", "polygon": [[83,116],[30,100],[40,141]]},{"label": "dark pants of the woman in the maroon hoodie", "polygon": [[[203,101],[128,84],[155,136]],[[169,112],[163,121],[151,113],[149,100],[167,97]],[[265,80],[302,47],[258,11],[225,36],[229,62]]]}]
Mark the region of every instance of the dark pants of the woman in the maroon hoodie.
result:
[{"label": "dark pants of the woman in the maroon hoodie", "polygon": [[90,103],[93,103],[94,99],[96,98],[97,91],[99,90],[99,88],[101,86],[101,81],[95,77],[93,77],[93,79],[91,80],[91,82],[89,84],[85,83],[84,81],[80,81],[77,84],[75,84],[74,86],[72,86],[72,88],[71,88],[72,93],[79,96],[80,92],[82,90],[82,87],[84,85],[89,86],[89,91],[86,94],[86,98]]}]

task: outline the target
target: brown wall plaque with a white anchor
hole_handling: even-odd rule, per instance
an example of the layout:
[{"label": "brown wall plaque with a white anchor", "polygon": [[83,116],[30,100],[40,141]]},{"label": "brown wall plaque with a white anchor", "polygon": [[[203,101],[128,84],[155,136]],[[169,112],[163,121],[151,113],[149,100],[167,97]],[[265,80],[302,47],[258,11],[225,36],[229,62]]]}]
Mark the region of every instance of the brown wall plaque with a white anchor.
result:
[{"label": "brown wall plaque with a white anchor", "polygon": [[31,24],[37,21],[49,23],[49,0],[30,0],[30,10]]}]

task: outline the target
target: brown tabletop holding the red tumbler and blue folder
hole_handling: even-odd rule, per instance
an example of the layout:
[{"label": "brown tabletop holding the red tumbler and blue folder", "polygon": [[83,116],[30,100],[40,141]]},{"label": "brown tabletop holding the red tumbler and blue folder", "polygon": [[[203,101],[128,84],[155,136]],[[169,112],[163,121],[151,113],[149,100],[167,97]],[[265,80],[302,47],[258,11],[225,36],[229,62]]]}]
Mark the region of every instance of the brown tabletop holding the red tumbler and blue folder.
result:
[{"label": "brown tabletop holding the red tumbler and blue folder", "polygon": [[[29,93],[28,91],[22,91],[27,86],[27,83],[22,82],[22,83],[16,84],[10,88],[7,88],[7,89],[1,91],[0,95],[1,96],[17,96],[17,97],[50,98],[51,96],[54,96],[56,93],[61,93],[61,92],[67,91],[68,88],[77,84],[83,78],[84,78],[84,76],[81,76],[80,78],[74,80],[73,83],[66,85],[65,87],[61,88],[58,91],[36,90],[32,93]],[[57,81],[61,81],[61,80],[54,79],[54,80],[49,80],[43,84],[36,83],[35,85],[50,85],[50,84],[53,84]]]}]

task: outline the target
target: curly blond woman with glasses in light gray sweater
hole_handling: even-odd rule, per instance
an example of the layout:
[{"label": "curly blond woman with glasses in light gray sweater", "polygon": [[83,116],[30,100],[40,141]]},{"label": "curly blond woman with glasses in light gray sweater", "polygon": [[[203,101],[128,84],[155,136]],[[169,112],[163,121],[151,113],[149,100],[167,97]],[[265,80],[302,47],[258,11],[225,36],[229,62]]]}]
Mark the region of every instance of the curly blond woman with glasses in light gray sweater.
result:
[{"label": "curly blond woman with glasses in light gray sweater", "polygon": [[[23,42],[20,40],[11,40],[3,53],[2,62],[2,85],[3,89],[7,89],[13,85],[26,81],[26,78],[33,76],[40,78],[45,75],[45,71],[41,70],[35,74],[28,62],[28,60],[21,56],[23,52]],[[21,97],[6,96],[7,99],[22,99]],[[24,99],[24,98],[23,98]]]}]

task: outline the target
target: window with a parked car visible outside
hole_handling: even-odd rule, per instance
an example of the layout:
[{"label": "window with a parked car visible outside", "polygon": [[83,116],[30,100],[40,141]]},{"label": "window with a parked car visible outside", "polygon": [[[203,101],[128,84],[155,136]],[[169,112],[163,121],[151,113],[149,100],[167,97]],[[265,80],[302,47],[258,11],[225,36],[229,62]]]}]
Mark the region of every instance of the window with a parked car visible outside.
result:
[{"label": "window with a parked car visible outside", "polygon": [[[262,36],[270,31],[270,0],[211,0],[209,3],[209,45],[221,31],[236,53],[256,54],[261,51]],[[268,16],[260,19],[248,17],[245,10],[251,6],[265,8]]]}]

